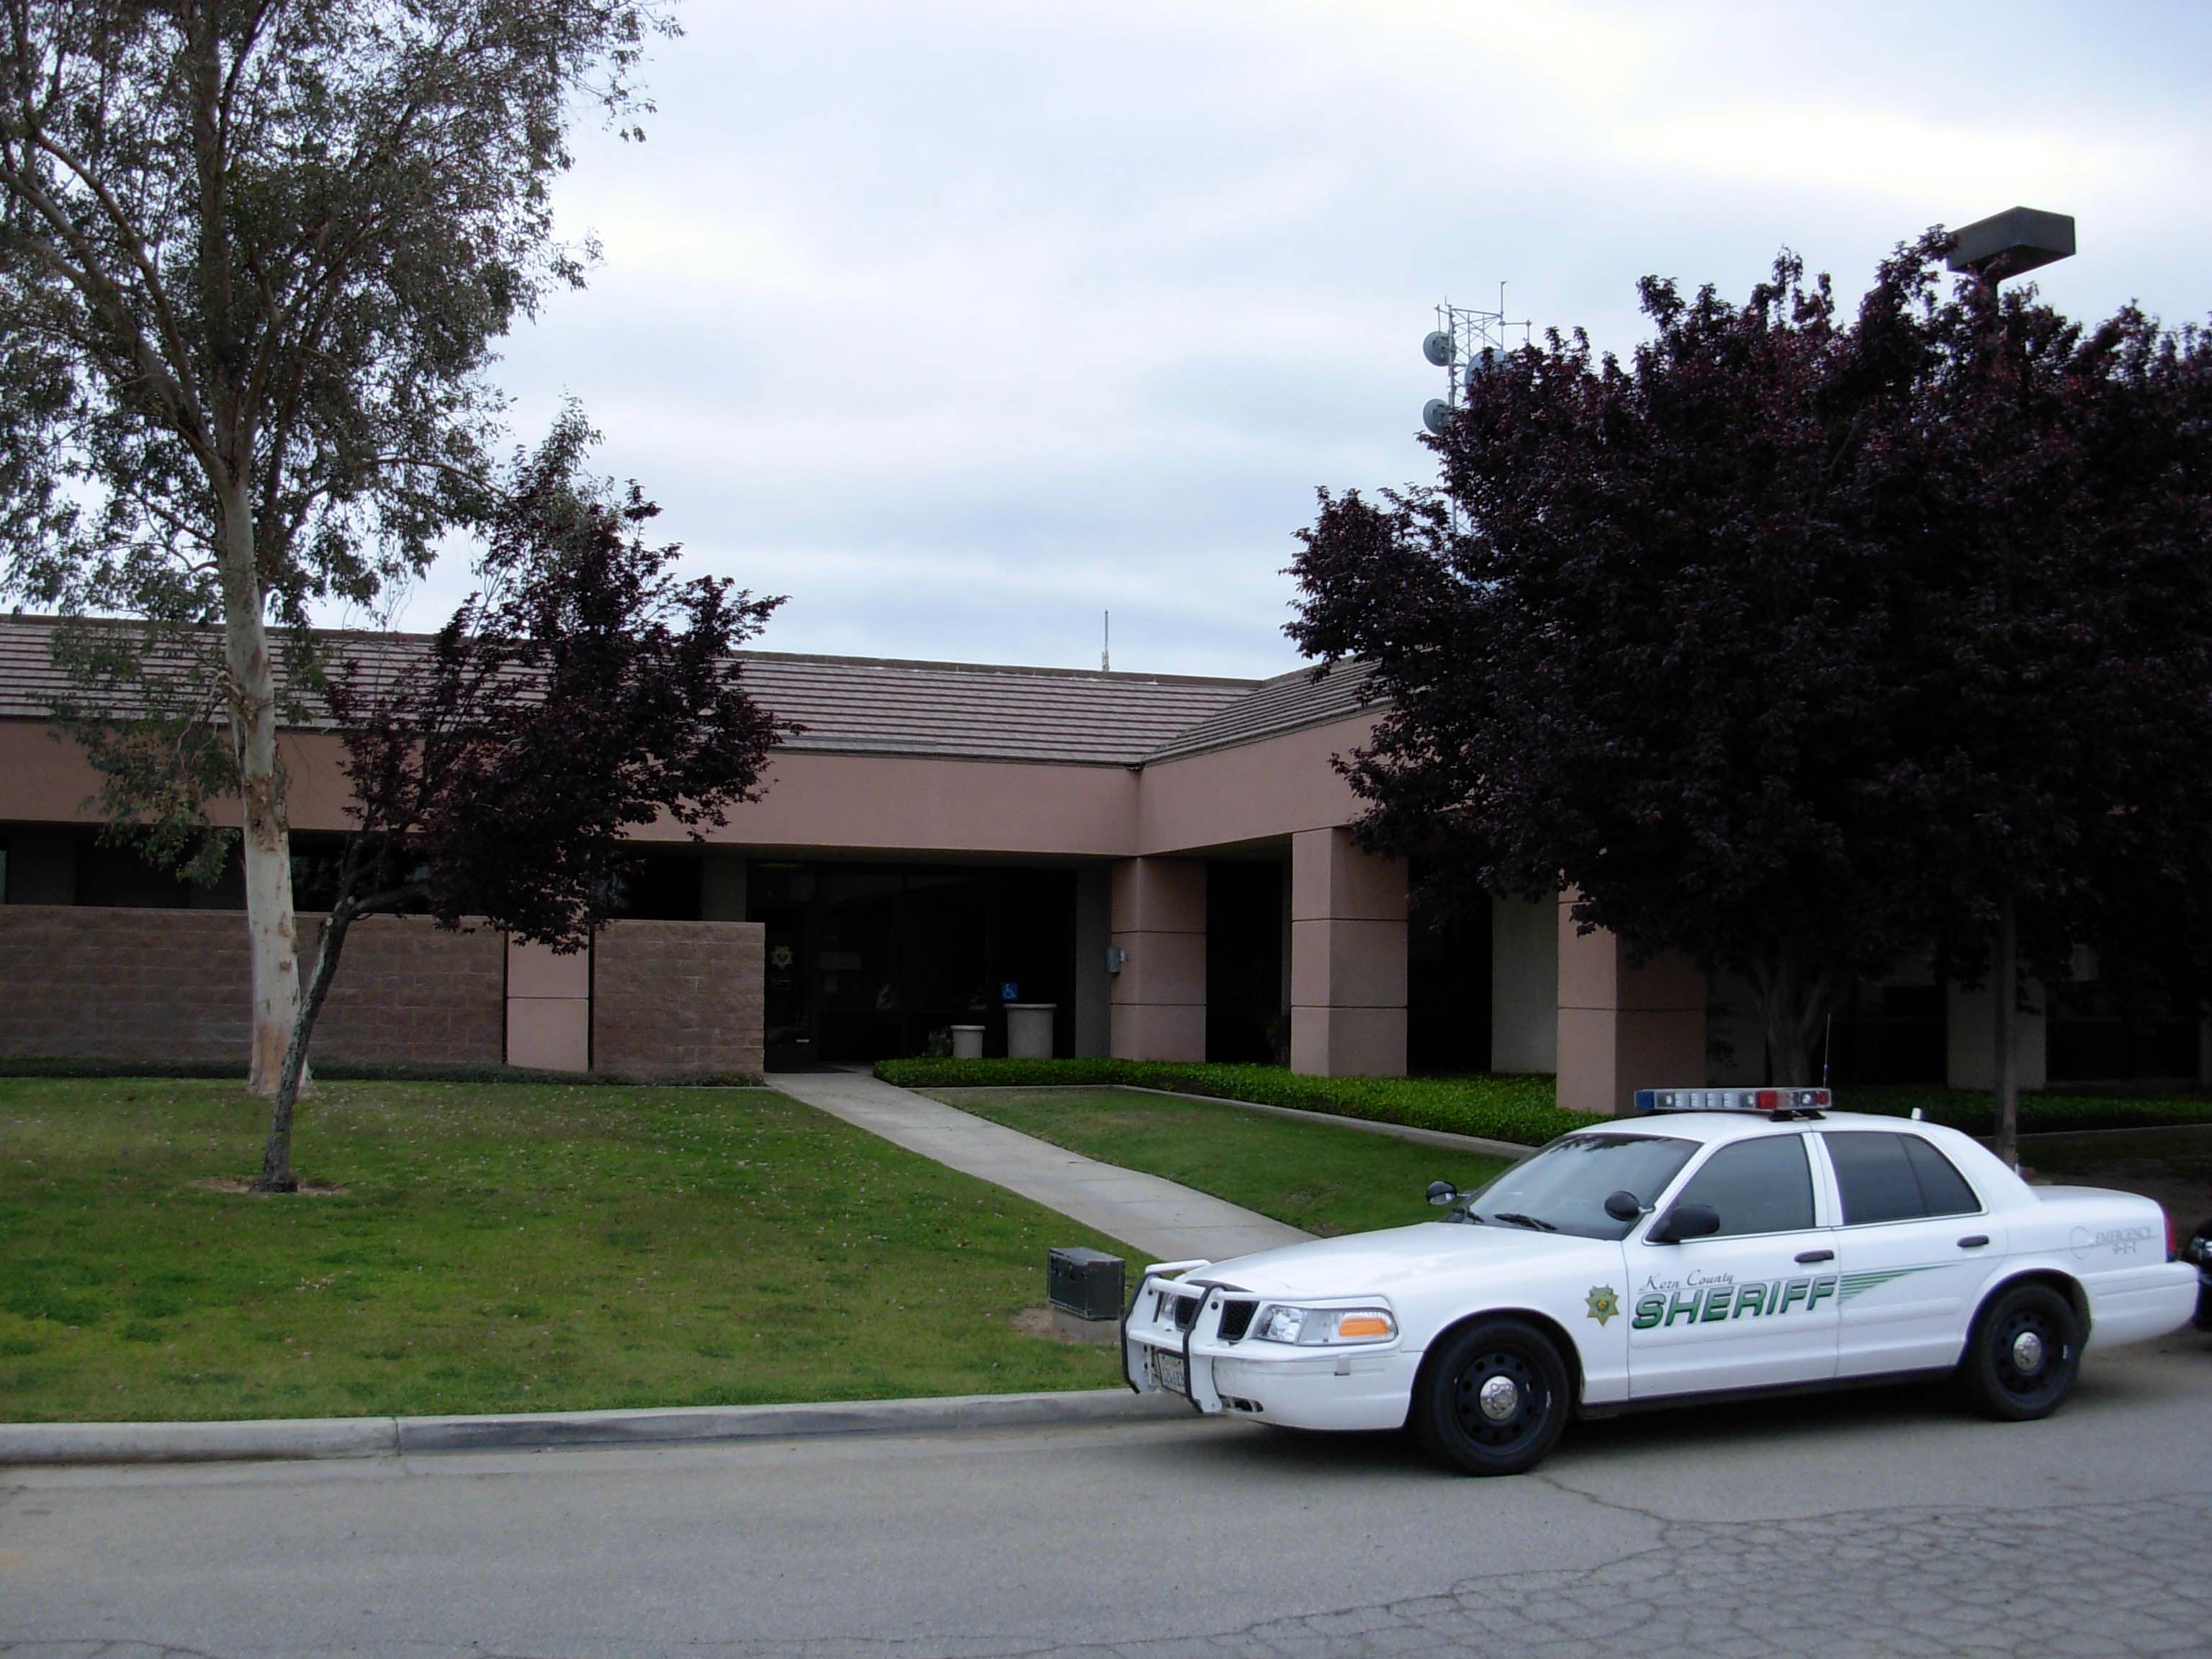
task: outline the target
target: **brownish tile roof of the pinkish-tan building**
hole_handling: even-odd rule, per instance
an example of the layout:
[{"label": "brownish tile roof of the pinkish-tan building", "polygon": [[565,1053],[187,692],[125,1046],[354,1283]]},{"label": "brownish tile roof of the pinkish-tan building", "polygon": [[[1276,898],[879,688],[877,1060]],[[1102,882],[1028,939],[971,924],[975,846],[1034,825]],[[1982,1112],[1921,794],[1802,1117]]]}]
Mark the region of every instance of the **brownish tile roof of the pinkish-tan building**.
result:
[{"label": "brownish tile roof of the pinkish-tan building", "polygon": [[[0,717],[44,719],[66,690],[51,617],[0,617]],[[325,646],[400,659],[422,635],[334,633]],[[1110,675],[1064,668],[739,653],[745,686],[805,730],[794,750],[1141,765],[1343,719],[1360,677]]]}]

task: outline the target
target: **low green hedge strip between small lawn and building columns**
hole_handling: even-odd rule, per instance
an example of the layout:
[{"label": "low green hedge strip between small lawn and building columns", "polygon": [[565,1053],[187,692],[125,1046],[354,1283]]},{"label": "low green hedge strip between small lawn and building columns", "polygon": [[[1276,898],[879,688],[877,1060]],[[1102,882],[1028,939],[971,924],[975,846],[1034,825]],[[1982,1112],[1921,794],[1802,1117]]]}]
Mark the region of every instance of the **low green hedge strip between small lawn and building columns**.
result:
[{"label": "low green hedge strip between small lawn and building columns", "polygon": [[1301,1077],[1283,1066],[1186,1066],[1168,1060],[878,1060],[900,1088],[1128,1084],[1305,1113],[1365,1117],[1542,1146],[1590,1124],[1553,1104],[1551,1077]]}]

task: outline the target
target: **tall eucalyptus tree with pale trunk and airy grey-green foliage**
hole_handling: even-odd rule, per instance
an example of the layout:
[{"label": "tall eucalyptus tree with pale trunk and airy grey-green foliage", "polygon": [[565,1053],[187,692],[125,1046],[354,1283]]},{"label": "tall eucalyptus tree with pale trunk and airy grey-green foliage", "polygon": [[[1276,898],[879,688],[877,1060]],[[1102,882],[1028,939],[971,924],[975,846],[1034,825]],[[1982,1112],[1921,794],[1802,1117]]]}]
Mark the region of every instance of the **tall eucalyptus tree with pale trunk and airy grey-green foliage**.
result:
[{"label": "tall eucalyptus tree with pale trunk and airy grey-green foliage", "polygon": [[71,655],[88,717],[215,732],[111,721],[93,759],[201,872],[206,787],[237,796],[270,1091],[299,1011],[279,657],[487,509],[493,343],[593,252],[551,215],[573,115],[637,135],[672,27],[650,0],[7,0],[0,29],[0,582],[142,624]]}]

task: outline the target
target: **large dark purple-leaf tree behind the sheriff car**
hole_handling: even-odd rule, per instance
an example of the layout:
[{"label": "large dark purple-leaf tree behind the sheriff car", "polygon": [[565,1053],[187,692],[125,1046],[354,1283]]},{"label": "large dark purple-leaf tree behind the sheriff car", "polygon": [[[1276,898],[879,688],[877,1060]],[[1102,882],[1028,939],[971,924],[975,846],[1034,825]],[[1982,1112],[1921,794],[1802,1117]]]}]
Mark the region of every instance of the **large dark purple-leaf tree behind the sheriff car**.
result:
[{"label": "large dark purple-leaf tree behind the sheriff car", "polygon": [[2119,872],[2201,845],[2203,343],[1944,296],[1942,246],[1856,319],[1790,257],[1743,305],[1646,279],[1628,363],[1509,354],[1436,487],[1323,493],[1292,566],[1292,637],[1387,699],[1343,761],[1367,845],[1741,975],[1776,1082],[2006,889],[2059,973]]}]

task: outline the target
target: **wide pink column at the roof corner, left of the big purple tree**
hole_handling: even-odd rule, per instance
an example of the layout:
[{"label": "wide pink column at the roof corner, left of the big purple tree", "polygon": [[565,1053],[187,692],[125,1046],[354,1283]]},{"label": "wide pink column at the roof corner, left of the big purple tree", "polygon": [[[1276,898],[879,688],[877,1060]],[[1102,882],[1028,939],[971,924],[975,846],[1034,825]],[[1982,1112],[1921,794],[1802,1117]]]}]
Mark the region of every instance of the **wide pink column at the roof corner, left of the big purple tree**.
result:
[{"label": "wide pink column at the roof corner, left of the big purple tree", "polygon": [[1290,1068],[1405,1077],[1405,860],[1349,830],[1290,838]]}]

